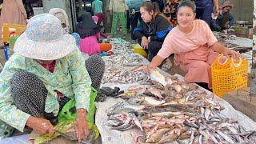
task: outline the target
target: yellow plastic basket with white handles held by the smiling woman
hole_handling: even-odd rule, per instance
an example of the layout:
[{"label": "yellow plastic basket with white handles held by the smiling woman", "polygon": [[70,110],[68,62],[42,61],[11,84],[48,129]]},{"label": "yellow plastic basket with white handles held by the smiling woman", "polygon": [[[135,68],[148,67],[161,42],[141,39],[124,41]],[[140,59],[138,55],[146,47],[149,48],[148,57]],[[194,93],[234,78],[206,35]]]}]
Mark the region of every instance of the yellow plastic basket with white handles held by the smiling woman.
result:
[{"label": "yellow plastic basket with white handles held by the smiling woman", "polygon": [[233,58],[226,58],[226,62],[220,63],[219,59],[223,54],[219,54],[211,65],[212,86],[214,94],[222,97],[223,94],[232,90],[239,90],[247,86],[248,82],[248,62],[240,58],[234,62]]}]

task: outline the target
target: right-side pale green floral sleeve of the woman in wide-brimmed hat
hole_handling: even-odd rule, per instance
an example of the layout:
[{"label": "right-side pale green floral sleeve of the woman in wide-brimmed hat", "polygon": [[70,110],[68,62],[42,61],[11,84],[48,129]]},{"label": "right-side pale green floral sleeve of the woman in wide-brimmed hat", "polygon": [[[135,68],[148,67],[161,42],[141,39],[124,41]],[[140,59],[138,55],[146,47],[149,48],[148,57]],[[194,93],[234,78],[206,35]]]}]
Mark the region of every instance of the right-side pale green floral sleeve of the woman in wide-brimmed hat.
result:
[{"label": "right-side pale green floral sleeve of the woman in wide-brimmed hat", "polygon": [[86,70],[85,59],[82,58],[82,54],[78,49],[75,49],[68,57],[76,108],[83,108],[89,111],[91,80]]}]

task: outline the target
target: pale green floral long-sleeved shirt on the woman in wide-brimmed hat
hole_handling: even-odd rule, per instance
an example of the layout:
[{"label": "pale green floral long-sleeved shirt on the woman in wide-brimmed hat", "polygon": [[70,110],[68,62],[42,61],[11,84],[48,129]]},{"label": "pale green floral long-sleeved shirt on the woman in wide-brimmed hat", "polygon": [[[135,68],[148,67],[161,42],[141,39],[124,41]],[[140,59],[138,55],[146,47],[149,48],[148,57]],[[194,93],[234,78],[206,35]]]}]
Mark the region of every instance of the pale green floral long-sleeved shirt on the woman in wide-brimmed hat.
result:
[{"label": "pale green floral long-sleeved shirt on the woman in wide-brimmed hat", "polygon": [[64,58],[57,59],[54,73],[46,70],[32,58],[13,54],[0,74],[0,119],[6,124],[23,131],[30,117],[30,114],[14,106],[10,93],[10,79],[21,70],[35,74],[45,84],[48,90],[45,104],[47,113],[58,115],[58,97],[54,90],[58,90],[66,97],[75,97],[76,108],[89,111],[91,80],[86,70],[85,59],[78,49]]}]

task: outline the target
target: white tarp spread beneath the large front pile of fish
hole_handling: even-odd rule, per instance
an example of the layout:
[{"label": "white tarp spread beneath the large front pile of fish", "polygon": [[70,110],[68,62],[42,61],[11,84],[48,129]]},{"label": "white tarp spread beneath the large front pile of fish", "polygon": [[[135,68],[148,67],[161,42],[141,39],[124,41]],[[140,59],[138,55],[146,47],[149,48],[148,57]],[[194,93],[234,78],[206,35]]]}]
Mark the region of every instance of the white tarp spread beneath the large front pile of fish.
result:
[{"label": "white tarp spread beneath the large front pile of fish", "polygon": [[[177,74],[178,75],[178,74]],[[181,76],[179,76],[181,77]],[[127,90],[130,86],[135,86],[138,84],[123,84],[118,85],[114,83],[106,83],[103,86],[110,86],[114,88],[114,86],[120,87],[121,90]],[[119,130],[111,130],[109,127],[104,126],[104,122],[107,120],[106,110],[110,108],[110,106],[114,106],[114,104],[118,102],[123,102],[122,98],[106,98],[105,102],[97,102],[97,112],[95,115],[95,124],[98,127],[98,130],[102,136],[103,144],[132,144],[136,143],[135,138],[139,135],[142,135],[142,131],[140,131],[137,127],[131,130],[119,131]],[[222,98],[218,98],[218,102],[225,109],[222,110],[222,114],[226,115],[228,118],[237,119],[241,126],[244,126],[246,130],[256,130],[256,122],[251,120],[245,114],[242,114],[238,110],[234,110],[233,106],[230,105],[229,102],[226,102]]]}]

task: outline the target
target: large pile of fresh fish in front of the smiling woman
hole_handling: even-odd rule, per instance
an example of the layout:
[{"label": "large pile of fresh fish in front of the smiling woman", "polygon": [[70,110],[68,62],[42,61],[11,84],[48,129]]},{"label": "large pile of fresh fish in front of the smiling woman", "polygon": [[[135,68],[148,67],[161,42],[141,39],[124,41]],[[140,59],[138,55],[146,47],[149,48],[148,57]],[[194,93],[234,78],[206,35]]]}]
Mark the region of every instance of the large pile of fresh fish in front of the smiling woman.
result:
[{"label": "large pile of fresh fish in front of the smiling woman", "polygon": [[256,143],[256,132],[246,131],[234,119],[221,114],[213,94],[195,84],[150,73],[153,86],[132,86],[107,110],[105,122],[114,130],[137,126],[139,143]]}]

